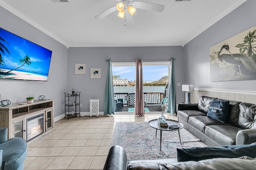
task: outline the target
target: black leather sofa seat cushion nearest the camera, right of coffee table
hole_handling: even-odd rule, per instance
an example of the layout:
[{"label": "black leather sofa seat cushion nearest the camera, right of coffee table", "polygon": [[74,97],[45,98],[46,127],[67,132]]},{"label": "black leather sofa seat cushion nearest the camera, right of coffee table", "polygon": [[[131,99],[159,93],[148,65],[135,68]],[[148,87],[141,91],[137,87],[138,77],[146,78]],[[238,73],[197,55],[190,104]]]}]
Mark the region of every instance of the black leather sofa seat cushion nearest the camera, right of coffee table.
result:
[{"label": "black leather sofa seat cushion nearest the camera, right of coffee table", "polygon": [[204,134],[219,145],[236,145],[236,134],[240,130],[229,125],[209,125],[205,127]]}]

